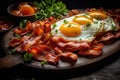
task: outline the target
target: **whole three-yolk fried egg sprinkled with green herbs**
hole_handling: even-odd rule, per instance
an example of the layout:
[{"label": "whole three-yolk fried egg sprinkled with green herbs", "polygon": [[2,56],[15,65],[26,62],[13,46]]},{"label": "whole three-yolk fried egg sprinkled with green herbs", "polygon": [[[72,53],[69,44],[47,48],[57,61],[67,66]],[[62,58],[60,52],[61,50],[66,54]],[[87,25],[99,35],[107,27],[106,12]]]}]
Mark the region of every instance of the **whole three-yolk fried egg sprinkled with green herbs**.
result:
[{"label": "whole three-yolk fried egg sprinkled with green herbs", "polygon": [[52,24],[51,34],[69,41],[93,41],[100,33],[116,31],[114,20],[104,12],[77,14]]}]

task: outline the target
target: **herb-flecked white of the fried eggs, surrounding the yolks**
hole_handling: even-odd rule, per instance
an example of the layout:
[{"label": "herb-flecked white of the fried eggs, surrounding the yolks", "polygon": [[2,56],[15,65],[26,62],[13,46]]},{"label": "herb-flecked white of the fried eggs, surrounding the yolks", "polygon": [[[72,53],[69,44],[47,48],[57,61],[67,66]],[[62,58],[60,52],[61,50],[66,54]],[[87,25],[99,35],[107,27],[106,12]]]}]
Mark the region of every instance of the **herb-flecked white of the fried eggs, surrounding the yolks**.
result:
[{"label": "herb-flecked white of the fried eggs, surrounding the yolks", "polygon": [[109,16],[104,20],[98,20],[98,19],[93,18],[93,23],[91,23],[90,26],[80,25],[82,27],[80,35],[78,35],[76,37],[67,37],[60,31],[60,27],[62,24],[64,24],[64,21],[72,22],[73,18],[76,16],[87,16],[88,18],[90,18],[90,16],[87,14],[78,14],[78,15],[74,15],[72,17],[60,20],[52,25],[51,34],[53,36],[62,37],[64,39],[70,40],[70,41],[78,41],[78,42],[88,41],[88,42],[90,42],[90,41],[93,41],[96,38],[96,35],[101,32],[115,31],[118,29],[114,20]]}]

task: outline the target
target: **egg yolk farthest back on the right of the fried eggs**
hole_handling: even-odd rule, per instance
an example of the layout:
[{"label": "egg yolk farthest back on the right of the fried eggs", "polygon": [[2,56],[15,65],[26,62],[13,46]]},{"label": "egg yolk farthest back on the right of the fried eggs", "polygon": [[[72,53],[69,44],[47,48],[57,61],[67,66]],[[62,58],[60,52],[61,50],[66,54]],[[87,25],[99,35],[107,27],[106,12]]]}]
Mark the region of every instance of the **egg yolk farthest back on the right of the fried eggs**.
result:
[{"label": "egg yolk farthest back on the right of the fried eggs", "polygon": [[107,15],[104,12],[100,11],[91,11],[88,13],[92,18],[97,18],[97,19],[106,19]]}]

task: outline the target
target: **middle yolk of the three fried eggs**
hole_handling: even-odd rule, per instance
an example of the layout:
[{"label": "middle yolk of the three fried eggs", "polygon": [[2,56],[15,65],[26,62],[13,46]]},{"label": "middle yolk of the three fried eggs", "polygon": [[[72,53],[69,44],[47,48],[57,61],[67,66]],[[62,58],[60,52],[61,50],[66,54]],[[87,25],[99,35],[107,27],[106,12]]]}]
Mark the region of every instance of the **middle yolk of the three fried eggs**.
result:
[{"label": "middle yolk of the three fried eggs", "polygon": [[76,16],[74,19],[73,19],[74,22],[80,24],[80,25],[86,25],[88,23],[92,23],[93,20],[91,18],[88,18],[86,16]]}]

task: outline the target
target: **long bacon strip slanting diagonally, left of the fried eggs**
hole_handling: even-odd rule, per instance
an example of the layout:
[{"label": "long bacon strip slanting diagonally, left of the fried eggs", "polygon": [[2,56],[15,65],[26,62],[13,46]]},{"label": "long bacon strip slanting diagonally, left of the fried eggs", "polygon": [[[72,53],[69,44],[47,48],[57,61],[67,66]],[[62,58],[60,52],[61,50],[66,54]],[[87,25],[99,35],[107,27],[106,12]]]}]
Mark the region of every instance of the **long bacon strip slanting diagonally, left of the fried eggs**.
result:
[{"label": "long bacon strip slanting diagonally, left of the fried eggs", "polygon": [[[37,23],[40,23],[40,25],[37,25],[29,38],[27,40],[24,40],[22,44],[16,48],[17,51],[27,51],[32,45],[36,44],[36,42],[43,37],[44,33],[48,33],[50,31],[50,23],[45,22],[44,25],[40,21]],[[43,27],[44,30],[42,29]],[[46,40],[44,40],[44,42],[46,42]]]}]

